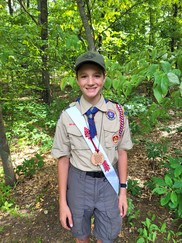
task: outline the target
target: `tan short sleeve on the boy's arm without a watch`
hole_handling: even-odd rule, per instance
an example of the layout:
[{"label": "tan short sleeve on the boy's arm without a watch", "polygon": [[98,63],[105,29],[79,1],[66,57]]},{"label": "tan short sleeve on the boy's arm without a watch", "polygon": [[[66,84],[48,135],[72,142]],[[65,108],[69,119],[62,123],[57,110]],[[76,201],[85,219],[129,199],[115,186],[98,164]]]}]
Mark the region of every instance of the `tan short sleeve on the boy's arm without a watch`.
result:
[{"label": "tan short sleeve on the boy's arm without a watch", "polygon": [[51,154],[54,158],[58,159],[63,156],[70,157],[70,142],[66,129],[66,125],[64,124],[65,113],[61,113],[60,118],[56,125],[56,132],[54,135],[53,146],[51,150]]}]

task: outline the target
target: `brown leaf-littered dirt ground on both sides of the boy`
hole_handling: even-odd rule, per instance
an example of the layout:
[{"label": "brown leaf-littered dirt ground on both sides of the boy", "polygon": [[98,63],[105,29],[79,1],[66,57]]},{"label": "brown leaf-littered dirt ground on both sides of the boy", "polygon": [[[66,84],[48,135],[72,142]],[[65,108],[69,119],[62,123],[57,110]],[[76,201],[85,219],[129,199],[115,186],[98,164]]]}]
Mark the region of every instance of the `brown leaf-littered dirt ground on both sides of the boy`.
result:
[{"label": "brown leaf-littered dirt ground on both sides of the boy", "polygon": [[[174,124],[175,125],[175,122]],[[151,137],[152,136],[152,137]],[[169,150],[172,152],[174,147],[180,148],[180,133],[173,129],[171,133],[162,134],[156,130],[150,139],[159,141],[160,136],[168,136]],[[139,140],[138,140],[139,141]],[[24,151],[15,151],[13,160],[28,158],[33,156],[36,151],[34,148],[27,148]],[[170,152],[169,151],[169,152]],[[23,156],[23,157],[22,157]],[[58,188],[57,188],[57,166],[56,161],[50,153],[44,154],[45,166],[37,172],[33,178],[20,177],[12,196],[18,208],[17,215],[10,215],[0,212],[0,242],[2,243],[73,243],[70,232],[64,230],[59,223],[58,217]],[[140,210],[139,218],[130,225],[127,218],[124,219],[123,228],[115,243],[128,242],[135,243],[137,240],[137,228],[141,227],[141,221],[145,220],[147,213],[155,214],[157,222],[166,222],[172,230],[177,229],[173,222],[173,215],[167,208],[161,207],[159,199],[152,196],[144,186],[151,176],[163,173],[158,165],[153,170],[146,157],[144,143],[140,139],[139,143],[129,152],[129,178],[138,180],[142,189],[142,196],[133,199],[135,210]],[[91,242],[95,242],[92,237]],[[163,239],[156,242],[164,242]],[[172,242],[172,241],[171,241]],[[180,241],[179,241],[180,242]]]}]

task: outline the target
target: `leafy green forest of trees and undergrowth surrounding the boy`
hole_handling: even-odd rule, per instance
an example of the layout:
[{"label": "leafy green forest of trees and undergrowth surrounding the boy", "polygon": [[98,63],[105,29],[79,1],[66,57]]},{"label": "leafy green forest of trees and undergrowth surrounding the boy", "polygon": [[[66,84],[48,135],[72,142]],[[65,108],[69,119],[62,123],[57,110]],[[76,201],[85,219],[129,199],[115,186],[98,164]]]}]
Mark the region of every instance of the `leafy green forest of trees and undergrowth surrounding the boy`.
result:
[{"label": "leafy green forest of trees and undergrowth surrounding the boy", "polygon": [[[61,110],[80,95],[74,62],[86,50],[97,50],[105,57],[103,93],[124,105],[135,143],[129,156],[136,158],[134,162],[142,160],[147,170],[142,182],[138,167],[130,169],[124,238],[126,242],[180,242],[181,10],[177,0],[0,0],[2,242],[30,242],[28,236],[21,236],[22,225],[17,224],[19,231],[14,232],[19,236],[8,233],[11,221],[32,220],[39,210],[46,217],[56,212],[54,206],[43,207],[56,180],[49,177],[45,186],[36,178],[44,180],[50,168],[56,173],[55,161],[49,157],[55,125]],[[168,136],[160,136],[161,132]],[[21,204],[27,190],[37,188],[34,183],[42,189],[32,189],[34,197]],[[151,198],[158,212],[165,212],[165,217],[160,216],[163,222],[159,223],[155,209],[152,214],[150,208],[141,213]],[[141,208],[136,210],[138,202]],[[26,224],[25,232],[30,232],[29,221]],[[35,229],[32,242],[66,242],[65,238],[56,241],[53,231],[52,236],[42,236]],[[64,235],[63,229],[60,232]]]}]

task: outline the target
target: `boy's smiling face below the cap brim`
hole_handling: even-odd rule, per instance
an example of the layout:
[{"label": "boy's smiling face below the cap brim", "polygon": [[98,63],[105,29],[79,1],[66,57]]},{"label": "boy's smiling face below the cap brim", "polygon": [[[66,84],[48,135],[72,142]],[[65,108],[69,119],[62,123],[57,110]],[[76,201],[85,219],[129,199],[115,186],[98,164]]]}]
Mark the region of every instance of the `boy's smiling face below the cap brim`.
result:
[{"label": "boy's smiling face below the cap brim", "polygon": [[100,99],[106,75],[96,64],[83,64],[77,72],[77,83],[84,98],[91,104],[96,104]]}]

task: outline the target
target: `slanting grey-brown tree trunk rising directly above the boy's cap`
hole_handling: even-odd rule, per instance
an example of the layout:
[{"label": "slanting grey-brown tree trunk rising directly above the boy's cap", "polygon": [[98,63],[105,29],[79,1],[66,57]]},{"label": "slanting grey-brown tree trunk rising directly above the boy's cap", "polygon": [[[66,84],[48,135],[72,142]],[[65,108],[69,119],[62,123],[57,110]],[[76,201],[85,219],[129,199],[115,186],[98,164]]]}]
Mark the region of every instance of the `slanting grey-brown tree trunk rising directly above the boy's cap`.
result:
[{"label": "slanting grey-brown tree trunk rising directly above the boy's cap", "polygon": [[[95,42],[94,42],[94,37],[92,34],[92,27],[91,27],[91,24],[89,24],[89,18],[87,16],[85,8],[84,8],[84,0],[76,0],[76,1],[77,1],[80,17],[82,19],[82,23],[83,23],[83,26],[85,29],[86,39],[87,39],[87,43],[88,43],[88,49],[90,51],[94,51]],[[87,5],[87,7],[88,7],[88,5]]]}]

